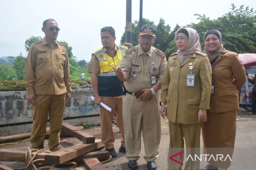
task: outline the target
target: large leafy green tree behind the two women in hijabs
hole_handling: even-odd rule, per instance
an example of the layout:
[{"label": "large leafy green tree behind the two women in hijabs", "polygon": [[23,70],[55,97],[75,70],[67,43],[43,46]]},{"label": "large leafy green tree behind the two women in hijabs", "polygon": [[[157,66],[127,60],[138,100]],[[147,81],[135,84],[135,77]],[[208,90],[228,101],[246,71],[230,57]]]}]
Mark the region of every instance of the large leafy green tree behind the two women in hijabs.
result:
[{"label": "large leafy green tree behind the two women in hijabs", "polygon": [[231,11],[218,19],[210,20],[205,15],[199,15],[199,23],[188,26],[196,29],[200,36],[200,43],[204,50],[204,34],[211,29],[216,29],[222,34],[224,48],[236,53],[256,52],[256,11],[253,8],[241,5],[237,8],[231,4]]}]

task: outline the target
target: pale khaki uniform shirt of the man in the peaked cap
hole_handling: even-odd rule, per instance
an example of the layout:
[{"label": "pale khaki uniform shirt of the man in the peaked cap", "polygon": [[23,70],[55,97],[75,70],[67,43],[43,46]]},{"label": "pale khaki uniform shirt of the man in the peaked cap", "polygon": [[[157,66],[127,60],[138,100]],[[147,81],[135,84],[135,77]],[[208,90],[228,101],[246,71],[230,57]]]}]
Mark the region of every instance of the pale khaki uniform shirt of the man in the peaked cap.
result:
[{"label": "pale khaki uniform shirt of the man in the peaked cap", "polygon": [[[118,66],[129,75],[129,79],[124,82],[124,86],[129,92],[151,88],[153,86],[151,85],[151,75],[156,76],[156,81],[163,79],[165,63],[167,62],[164,56],[162,58],[157,54],[159,50],[155,47],[151,47],[147,53],[142,50],[140,45],[133,48],[136,49],[130,53],[127,52],[129,49],[125,51]],[[156,68],[155,71],[153,67]],[[132,74],[136,75],[135,79],[132,79]]]}]

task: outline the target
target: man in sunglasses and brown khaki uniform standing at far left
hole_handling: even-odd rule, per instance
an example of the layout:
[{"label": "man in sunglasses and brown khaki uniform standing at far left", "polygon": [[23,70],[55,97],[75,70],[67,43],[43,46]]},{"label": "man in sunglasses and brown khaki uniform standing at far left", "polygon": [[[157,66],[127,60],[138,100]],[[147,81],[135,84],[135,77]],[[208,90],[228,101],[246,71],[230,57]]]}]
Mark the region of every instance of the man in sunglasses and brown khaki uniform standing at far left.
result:
[{"label": "man in sunglasses and brown khaki uniform standing at far left", "polygon": [[71,81],[66,48],[56,41],[60,28],[53,19],[43,22],[44,40],[31,45],[28,51],[24,84],[27,102],[32,104],[32,148],[44,148],[44,136],[49,113],[50,151],[60,148],[65,100],[71,100]]}]

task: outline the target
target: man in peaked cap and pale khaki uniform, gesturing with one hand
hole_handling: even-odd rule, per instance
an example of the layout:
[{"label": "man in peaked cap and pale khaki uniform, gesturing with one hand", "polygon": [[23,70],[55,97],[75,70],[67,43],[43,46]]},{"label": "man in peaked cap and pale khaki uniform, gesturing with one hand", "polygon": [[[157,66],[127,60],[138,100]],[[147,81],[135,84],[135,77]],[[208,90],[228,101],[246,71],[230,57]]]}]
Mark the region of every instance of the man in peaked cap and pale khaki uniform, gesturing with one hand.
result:
[{"label": "man in peaked cap and pale khaki uniform, gesturing with one hand", "polygon": [[162,51],[152,47],[156,41],[155,33],[156,29],[153,26],[142,26],[140,34],[137,35],[139,45],[125,51],[116,69],[117,77],[124,81],[126,88],[126,95],[123,98],[123,119],[126,158],[129,160],[130,169],[138,168],[141,130],[145,146],[144,159],[148,162],[148,169],[156,169],[155,160],[158,157],[161,138],[159,90],[164,78],[166,59]]}]

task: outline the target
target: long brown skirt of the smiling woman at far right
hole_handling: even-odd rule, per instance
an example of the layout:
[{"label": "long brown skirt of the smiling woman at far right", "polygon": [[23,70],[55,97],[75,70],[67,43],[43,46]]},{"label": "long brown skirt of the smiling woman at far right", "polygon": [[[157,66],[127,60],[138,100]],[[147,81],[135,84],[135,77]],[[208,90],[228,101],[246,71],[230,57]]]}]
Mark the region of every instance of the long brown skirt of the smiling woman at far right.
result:
[{"label": "long brown skirt of the smiling woman at far right", "polygon": [[[237,110],[207,113],[207,122],[202,125],[204,154],[222,154],[224,158],[228,154],[232,158],[236,139],[236,114]],[[224,169],[228,169],[231,165],[230,159],[226,161],[210,159],[207,162]]]}]

